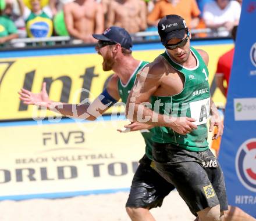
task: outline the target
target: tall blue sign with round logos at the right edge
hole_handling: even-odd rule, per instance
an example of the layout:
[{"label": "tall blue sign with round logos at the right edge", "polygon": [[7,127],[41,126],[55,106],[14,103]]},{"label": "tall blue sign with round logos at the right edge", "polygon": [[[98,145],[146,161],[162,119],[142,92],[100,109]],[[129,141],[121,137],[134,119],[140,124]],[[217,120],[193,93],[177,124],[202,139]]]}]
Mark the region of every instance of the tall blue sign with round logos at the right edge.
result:
[{"label": "tall blue sign with round logos at the right edge", "polygon": [[256,218],[256,1],[244,0],[237,30],[219,161],[229,205]]}]

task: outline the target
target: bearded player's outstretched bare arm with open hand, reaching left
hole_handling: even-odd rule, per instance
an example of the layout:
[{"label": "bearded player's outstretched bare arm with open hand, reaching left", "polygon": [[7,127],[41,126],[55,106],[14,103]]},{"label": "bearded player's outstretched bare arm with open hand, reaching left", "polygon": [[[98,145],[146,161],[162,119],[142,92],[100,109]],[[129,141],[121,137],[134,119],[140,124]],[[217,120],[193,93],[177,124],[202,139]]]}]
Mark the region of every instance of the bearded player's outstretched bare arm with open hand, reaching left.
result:
[{"label": "bearded player's outstretched bare arm with open hand, reaching left", "polygon": [[[106,86],[109,95],[115,100],[120,99],[117,79],[118,78],[114,75]],[[109,104],[105,105],[101,102],[102,95],[99,95],[91,104],[65,104],[61,102],[53,102],[49,100],[45,83],[42,86],[42,91],[38,94],[22,89],[22,91],[19,92],[19,95],[20,100],[22,100],[24,104],[34,104],[48,108],[48,110],[55,111],[67,117],[83,118],[90,121],[95,120],[109,108]]]}]

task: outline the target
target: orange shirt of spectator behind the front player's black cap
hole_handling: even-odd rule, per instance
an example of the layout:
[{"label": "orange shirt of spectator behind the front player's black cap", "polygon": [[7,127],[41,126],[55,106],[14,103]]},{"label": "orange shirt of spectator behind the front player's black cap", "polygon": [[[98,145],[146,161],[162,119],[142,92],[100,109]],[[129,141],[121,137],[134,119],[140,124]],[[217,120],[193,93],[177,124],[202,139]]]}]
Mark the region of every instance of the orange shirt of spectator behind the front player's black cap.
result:
[{"label": "orange shirt of spectator behind the front player's black cap", "polygon": [[176,6],[168,0],[161,0],[155,3],[155,7],[148,15],[148,20],[154,22],[166,15],[179,15],[185,19],[186,24],[190,27],[192,17],[198,17],[200,10],[195,0],[180,0]]}]

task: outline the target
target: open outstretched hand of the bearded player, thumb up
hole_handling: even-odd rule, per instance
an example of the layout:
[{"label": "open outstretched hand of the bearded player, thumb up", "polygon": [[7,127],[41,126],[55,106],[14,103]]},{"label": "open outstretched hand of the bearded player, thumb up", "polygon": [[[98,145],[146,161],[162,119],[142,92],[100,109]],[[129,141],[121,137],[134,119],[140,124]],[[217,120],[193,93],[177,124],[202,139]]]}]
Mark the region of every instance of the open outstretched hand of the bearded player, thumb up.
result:
[{"label": "open outstretched hand of the bearded player, thumb up", "polygon": [[20,92],[18,92],[20,97],[19,99],[23,101],[24,104],[33,104],[36,106],[41,107],[49,107],[50,100],[48,93],[46,91],[46,83],[42,83],[42,90],[40,93],[32,93],[29,90],[26,90],[24,88],[20,89]]}]

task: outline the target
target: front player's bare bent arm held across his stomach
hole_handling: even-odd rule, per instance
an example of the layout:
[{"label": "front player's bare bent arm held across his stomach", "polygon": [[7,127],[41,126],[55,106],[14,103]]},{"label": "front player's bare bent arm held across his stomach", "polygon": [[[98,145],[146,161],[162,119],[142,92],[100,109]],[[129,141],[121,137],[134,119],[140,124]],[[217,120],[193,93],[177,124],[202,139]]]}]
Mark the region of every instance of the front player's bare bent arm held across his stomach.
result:
[{"label": "front player's bare bent arm held across his stomach", "polygon": [[[155,62],[155,61],[154,61]],[[130,92],[126,104],[126,116],[130,121],[144,122],[152,126],[166,126],[182,135],[196,129],[197,126],[191,122],[192,118],[175,118],[170,115],[163,115],[151,110],[151,104],[146,102],[157,92],[163,77],[162,63],[148,64],[136,79],[136,83]]]}]

